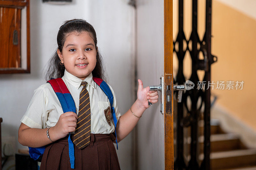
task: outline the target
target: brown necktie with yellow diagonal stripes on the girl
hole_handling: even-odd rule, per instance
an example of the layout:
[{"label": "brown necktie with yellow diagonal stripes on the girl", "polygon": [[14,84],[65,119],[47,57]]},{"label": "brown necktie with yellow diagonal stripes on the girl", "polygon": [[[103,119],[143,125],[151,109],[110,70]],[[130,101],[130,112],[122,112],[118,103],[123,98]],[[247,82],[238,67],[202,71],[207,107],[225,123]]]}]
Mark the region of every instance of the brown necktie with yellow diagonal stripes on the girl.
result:
[{"label": "brown necktie with yellow diagonal stripes on the girl", "polygon": [[82,81],[83,89],[79,97],[79,111],[76,124],[76,131],[73,143],[79,148],[83,149],[90,144],[91,134],[91,109],[89,93],[86,90],[87,82]]}]

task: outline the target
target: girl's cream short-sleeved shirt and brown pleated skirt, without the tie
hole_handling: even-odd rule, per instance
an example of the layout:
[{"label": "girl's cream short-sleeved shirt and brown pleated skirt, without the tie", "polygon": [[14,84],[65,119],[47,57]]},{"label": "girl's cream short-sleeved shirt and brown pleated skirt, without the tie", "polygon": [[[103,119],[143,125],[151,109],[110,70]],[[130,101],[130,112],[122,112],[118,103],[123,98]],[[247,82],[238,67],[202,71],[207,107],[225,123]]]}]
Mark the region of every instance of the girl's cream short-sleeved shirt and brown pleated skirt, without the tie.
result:
[{"label": "girl's cream short-sleeved shirt and brown pleated skirt, without the tie", "polygon": [[[68,73],[66,70],[62,80],[71,93],[76,113],[79,110],[79,94],[82,90],[82,80]],[[93,81],[90,73],[83,81],[87,82],[86,89],[90,96],[91,106],[91,142],[84,149],[75,148],[75,169],[120,169],[116,150],[114,120],[111,117],[110,125],[105,117],[104,110],[110,107],[108,97]],[[108,84],[113,97],[113,106],[117,121],[121,116],[116,104],[116,96]],[[30,128],[53,127],[63,113],[59,99],[50,83],[45,83],[34,91],[28,109],[21,122]],[[45,134],[46,135],[46,134]],[[51,137],[51,134],[49,134]],[[73,141],[73,135],[71,135]],[[40,169],[70,169],[68,156],[68,136],[46,146]]]}]

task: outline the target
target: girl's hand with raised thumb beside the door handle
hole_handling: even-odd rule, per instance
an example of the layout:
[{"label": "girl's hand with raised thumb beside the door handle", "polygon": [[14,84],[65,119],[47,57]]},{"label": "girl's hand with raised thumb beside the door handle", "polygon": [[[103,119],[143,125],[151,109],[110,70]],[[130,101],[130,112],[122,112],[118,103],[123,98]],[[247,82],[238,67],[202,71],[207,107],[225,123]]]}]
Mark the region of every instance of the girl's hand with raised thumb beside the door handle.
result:
[{"label": "girl's hand with raised thumb beside the door handle", "polygon": [[146,109],[149,107],[148,101],[153,103],[157,103],[158,101],[158,94],[157,91],[149,91],[149,86],[143,88],[143,83],[140,79],[138,79],[139,86],[137,92],[137,98],[140,104],[145,107]]}]

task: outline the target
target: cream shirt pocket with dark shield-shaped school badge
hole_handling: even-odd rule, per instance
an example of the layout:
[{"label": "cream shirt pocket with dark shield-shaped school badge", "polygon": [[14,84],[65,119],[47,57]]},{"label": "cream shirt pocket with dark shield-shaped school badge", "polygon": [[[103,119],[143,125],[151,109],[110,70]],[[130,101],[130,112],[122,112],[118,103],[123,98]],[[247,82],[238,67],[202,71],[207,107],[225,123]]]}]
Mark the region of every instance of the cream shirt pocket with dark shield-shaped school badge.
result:
[{"label": "cream shirt pocket with dark shield-shaped school badge", "polygon": [[98,101],[99,110],[100,110],[100,123],[101,126],[105,127],[108,130],[111,130],[111,108],[109,102]]}]

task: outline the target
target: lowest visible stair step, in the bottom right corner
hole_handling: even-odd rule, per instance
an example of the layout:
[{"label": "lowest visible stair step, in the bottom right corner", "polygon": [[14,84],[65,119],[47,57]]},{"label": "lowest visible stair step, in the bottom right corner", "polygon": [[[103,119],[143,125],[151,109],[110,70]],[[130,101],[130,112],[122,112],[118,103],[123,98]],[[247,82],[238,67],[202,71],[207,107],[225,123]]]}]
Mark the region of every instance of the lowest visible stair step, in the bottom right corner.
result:
[{"label": "lowest visible stair step, in the bottom right corner", "polygon": [[210,159],[211,169],[256,166],[256,149],[213,152]]}]

